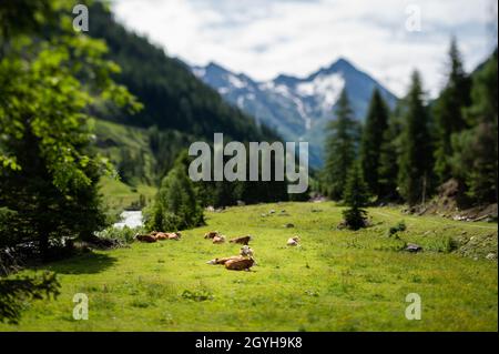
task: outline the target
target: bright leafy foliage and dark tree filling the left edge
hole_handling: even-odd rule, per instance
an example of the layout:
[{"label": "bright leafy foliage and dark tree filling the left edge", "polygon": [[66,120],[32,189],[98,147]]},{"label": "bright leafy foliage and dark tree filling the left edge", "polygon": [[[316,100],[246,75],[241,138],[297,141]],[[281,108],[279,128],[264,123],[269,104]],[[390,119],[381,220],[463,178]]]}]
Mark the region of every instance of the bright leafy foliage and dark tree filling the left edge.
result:
[{"label": "bright leafy foliage and dark tree filling the left edge", "polygon": [[105,223],[96,185],[112,169],[91,146],[91,108],[140,108],[111,80],[119,68],[103,58],[105,44],[74,34],[70,11],[52,11],[47,38],[8,38],[0,61],[0,203],[18,212],[10,227],[38,239],[43,255],[50,237],[89,237]]}]

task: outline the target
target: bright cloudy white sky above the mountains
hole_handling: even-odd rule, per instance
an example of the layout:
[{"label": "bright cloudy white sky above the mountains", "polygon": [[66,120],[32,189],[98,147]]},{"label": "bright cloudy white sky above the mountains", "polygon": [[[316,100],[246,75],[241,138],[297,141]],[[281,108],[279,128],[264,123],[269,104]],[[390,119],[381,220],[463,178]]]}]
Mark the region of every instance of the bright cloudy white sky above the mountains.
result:
[{"label": "bright cloudy white sky above the mountains", "polygon": [[264,81],[305,77],[343,57],[398,95],[418,69],[435,95],[451,36],[468,70],[491,52],[495,2],[114,0],[113,8],[128,28],[191,64],[214,61]]}]

